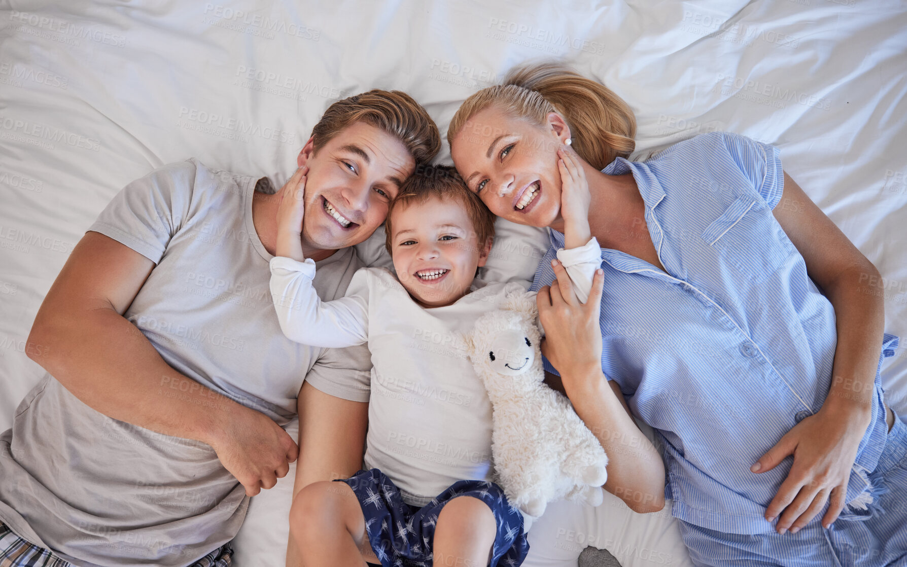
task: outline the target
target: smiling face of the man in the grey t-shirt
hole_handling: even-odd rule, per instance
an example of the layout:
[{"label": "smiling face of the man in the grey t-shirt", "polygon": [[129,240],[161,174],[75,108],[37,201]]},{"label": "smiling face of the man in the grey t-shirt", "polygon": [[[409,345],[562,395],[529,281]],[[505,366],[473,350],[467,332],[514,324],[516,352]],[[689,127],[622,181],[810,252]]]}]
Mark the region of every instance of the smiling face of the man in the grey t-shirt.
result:
[{"label": "smiling face of the man in the grey t-shirt", "polygon": [[346,248],[370,237],[415,168],[403,142],[366,122],[347,126],[320,148],[309,139],[297,163],[308,166],[302,240],[312,249]]}]

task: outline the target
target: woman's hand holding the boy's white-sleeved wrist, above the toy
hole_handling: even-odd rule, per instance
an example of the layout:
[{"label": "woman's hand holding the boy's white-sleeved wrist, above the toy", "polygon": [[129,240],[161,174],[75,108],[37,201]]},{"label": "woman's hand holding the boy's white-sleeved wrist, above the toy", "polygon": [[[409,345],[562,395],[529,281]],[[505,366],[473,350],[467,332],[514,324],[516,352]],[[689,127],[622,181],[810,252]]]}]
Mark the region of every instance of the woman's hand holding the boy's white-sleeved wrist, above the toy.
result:
[{"label": "woman's hand holding the boy's white-sleeved wrist, above the toy", "polygon": [[[551,260],[551,267],[558,281],[556,286],[539,290],[536,303],[539,320],[545,329],[541,340],[541,354],[558,369],[564,391],[571,397],[581,384],[573,384],[572,376],[601,374],[601,327],[599,326],[601,288],[604,273],[595,270],[592,289],[585,305],[573,293],[573,285],[561,262]],[[597,369],[597,373],[590,373]]]}]

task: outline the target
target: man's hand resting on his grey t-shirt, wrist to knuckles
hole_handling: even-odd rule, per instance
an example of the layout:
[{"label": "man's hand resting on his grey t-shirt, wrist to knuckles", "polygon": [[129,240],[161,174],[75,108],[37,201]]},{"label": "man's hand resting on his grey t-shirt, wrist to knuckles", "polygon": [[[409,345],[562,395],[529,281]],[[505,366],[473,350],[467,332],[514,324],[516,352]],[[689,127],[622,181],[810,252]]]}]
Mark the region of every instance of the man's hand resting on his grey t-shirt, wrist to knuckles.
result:
[{"label": "man's hand resting on his grey t-shirt, wrist to knuckles", "polygon": [[299,449],[293,438],[267,415],[244,407],[234,415],[210,445],[220,464],[254,496],[278,484],[296,461]]}]

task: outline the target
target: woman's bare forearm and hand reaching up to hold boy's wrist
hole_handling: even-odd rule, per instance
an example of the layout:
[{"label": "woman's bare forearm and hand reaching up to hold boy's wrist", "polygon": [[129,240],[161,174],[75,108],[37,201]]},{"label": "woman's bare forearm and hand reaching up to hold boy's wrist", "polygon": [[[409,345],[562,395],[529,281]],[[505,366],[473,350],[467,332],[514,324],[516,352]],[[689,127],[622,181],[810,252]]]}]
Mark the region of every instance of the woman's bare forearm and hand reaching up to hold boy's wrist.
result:
[{"label": "woman's bare forearm and hand reaching up to hold boy's wrist", "polygon": [[604,276],[597,270],[585,305],[571,291],[571,279],[556,260],[558,284],[539,290],[539,318],[545,328],[541,351],[561,373],[565,394],[577,415],[609,455],[605,490],[635,512],[658,512],[665,505],[665,467],[649,438],[639,430],[615,383],[601,372],[599,311]]}]

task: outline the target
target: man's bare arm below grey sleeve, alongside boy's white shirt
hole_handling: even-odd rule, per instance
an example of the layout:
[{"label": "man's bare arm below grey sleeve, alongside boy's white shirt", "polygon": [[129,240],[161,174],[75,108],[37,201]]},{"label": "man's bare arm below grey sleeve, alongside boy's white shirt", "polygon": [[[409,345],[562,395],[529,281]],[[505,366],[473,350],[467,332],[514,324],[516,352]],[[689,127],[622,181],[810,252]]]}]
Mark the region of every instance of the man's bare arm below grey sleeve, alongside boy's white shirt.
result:
[{"label": "man's bare arm below grey sleeve, alongside boy's white shirt", "polygon": [[[368,402],[351,402],[325,394],[303,383],[297,401],[299,412],[299,462],[296,495],[307,484],[348,478],[362,467],[368,426]],[[290,510],[290,522],[305,521]],[[287,548],[287,566],[302,567],[292,535]]]}]

